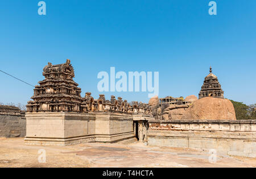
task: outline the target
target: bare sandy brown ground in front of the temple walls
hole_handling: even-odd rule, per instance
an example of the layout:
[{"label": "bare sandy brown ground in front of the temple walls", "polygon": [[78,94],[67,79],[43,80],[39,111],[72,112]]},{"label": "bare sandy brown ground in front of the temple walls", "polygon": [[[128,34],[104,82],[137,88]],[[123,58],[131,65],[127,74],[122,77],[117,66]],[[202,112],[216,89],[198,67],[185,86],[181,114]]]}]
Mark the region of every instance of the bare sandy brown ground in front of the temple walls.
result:
[{"label": "bare sandy brown ground in front of the temple walls", "polygon": [[[39,163],[39,149],[46,150],[46,163]],[[256,159],[218,156],[212,164],[208,158],[203,151],[139,142],[43,147],[26,145],[23,138],[0,138],[0,167],[256,167]]]}]

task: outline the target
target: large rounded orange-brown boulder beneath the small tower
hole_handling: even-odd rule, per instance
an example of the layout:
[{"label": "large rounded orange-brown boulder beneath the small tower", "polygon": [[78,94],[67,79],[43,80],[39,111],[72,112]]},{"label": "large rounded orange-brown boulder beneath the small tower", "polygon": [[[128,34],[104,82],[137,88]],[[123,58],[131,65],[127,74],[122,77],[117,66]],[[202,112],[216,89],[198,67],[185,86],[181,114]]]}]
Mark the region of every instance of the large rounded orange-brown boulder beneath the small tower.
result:
[{"label": "large rounded orange-brown boulder beneath the small tower", "polygon": [[236,120],[236,113],[228,99],[205,97],[193,102],[181,119]]}]

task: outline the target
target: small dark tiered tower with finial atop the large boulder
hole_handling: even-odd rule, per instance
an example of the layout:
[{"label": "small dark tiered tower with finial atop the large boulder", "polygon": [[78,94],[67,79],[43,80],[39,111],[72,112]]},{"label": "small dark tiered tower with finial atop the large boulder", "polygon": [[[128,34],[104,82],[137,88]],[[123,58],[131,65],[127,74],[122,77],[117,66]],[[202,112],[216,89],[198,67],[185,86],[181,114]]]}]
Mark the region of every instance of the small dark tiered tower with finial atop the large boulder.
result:
[{"label": "small dark tiered tower with finial atop the large boulder", "polygon": [[217,76],[212,73],[212,67],[210,67],[210,73],[208,76],[204,78],[204,84],[199,93],[199,99],[204,97],[224,99],[224,91],[221,89]]}]

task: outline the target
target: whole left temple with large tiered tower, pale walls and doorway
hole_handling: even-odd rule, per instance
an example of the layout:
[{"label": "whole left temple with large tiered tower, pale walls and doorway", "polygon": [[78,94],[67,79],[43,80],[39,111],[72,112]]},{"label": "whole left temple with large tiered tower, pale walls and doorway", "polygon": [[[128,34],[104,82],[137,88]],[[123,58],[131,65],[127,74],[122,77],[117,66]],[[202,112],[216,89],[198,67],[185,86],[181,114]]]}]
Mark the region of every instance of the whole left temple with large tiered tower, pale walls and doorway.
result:
[{"label": "whole left temple with large tiered tower, pale walls and doorway", "polygon": [[145,141],[148,119],[154,119],[150,106],[128,103],[121,97],[94,99],[81,89],[68,59],[64,64],[48,63],[45,79],[35,86],[26,113],[26,142],[29,144],[71,145],[82,142]]}]

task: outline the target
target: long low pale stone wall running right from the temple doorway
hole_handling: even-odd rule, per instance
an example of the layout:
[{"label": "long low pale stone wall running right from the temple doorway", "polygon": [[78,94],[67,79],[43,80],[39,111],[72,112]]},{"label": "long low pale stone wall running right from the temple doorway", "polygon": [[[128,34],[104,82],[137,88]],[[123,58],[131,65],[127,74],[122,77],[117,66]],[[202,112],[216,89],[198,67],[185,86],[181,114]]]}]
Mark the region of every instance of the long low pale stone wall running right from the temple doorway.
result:
[{"label": "long low pale stone wall running right from the temple doorway", "polygon": [[256,120],[151,120],[148,126],[148,145],[256,157]]}]

